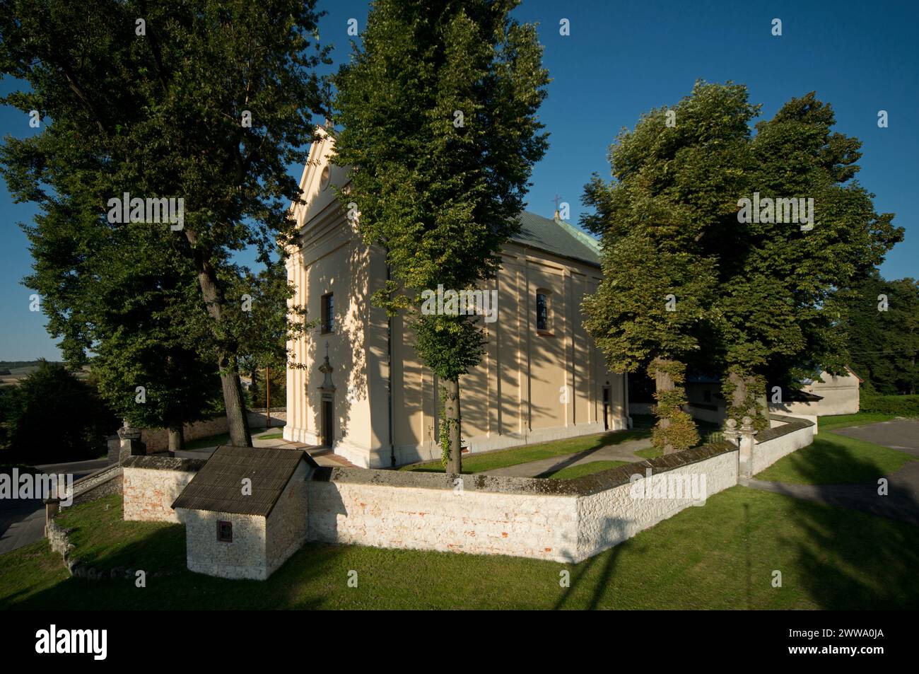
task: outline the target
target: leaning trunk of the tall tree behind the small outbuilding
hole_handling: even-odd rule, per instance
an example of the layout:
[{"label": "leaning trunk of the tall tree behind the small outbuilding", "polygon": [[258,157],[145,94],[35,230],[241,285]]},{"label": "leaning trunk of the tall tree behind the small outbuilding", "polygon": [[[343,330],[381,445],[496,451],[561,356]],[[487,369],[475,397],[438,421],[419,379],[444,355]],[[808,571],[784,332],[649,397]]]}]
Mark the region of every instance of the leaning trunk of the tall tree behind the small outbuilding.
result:
[{"label": "leaning trunk of the tall tree behind the small outbuilding", "polygon": [[[221,322],[221,314],[225,304],[223,293],[217,282],[217,272],[210,265],[210,261],[196,246],[198,235],[190,228],[184,229],[188,243],[191,245],[195,266],[198,268],[198,282],[201,288],[201,297],[207,307],[208,314],[216,323]],[[241,308],[242,310],[242,308]],[[239,382],[239,365],[233,353],[226,350],[221,352],[218,366],[221,373],[223,388],[223,406],[226,408],[227,427],[230,431],[230,441],[236,447],[252,447],[252,435],[249,433],[249,418],[245,412],[243,387]]]}]

